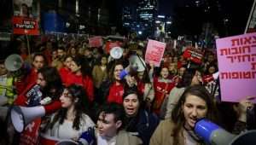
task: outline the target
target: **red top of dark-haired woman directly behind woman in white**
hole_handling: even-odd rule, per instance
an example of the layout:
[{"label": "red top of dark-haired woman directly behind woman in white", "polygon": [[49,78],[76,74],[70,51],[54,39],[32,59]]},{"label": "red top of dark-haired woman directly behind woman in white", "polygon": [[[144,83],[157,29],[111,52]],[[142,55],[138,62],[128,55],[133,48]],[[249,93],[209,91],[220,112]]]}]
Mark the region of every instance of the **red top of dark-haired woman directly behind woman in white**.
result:
[{"label": "red top of dark-haired woman directly behind woman in white", "polygon": [[68,73],[67,86],[70,84],[80,84],[84,87],[84,90],[88,96],[90,102],[94,100],[94,85],[92,78],[89,76],[76,75],[73,73]]}]

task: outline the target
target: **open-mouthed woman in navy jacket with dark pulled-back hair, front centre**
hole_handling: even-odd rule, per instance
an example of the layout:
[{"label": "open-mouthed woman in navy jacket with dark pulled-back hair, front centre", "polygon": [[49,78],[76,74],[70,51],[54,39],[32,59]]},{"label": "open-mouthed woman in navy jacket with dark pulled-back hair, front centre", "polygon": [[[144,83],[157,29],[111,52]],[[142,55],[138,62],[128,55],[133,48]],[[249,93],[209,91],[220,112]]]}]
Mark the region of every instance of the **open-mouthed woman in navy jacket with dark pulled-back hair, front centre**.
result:
[{"label": "open-mouthed woman in navy jacket with dark pulled-back hair, front centre", "polygon": [[142,139],[143,145],[149,140],[159,124],[154,113],[148,112],[143,105],[143,97],[138,96],[136,89],[127,89],[124,94],[123,106],[125,108],[125,130]]}]

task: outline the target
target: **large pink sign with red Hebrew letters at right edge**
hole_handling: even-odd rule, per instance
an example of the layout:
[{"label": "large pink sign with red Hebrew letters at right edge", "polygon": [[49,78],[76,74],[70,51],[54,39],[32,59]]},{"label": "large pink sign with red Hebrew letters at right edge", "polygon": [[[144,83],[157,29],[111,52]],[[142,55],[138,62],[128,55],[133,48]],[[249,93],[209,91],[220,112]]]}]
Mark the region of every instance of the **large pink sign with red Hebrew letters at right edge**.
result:
[{"label": "large pink sign with red Hebrew letters at right edge", "polygon": [[256,33],[219,38],[216,44],[222,101],[256,96]]}]

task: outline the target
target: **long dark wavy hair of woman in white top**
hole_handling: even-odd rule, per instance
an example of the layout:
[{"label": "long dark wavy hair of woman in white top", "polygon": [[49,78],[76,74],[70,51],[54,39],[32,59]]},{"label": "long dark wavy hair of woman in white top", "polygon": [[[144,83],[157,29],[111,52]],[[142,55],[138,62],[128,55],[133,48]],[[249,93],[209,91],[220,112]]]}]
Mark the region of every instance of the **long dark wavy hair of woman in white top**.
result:
[{"label": "long dark wavy hair of woman in white top", "polygon": [[[78,84],[69,85],[66,90],[71,95],[72,101],[75,103],[75,119],[73,120],[73,129],[79,130],[79,125],[82,119],[82,114],[88,111],[88,97],[84,91],[84,88]],[[75,102],[77,100],[77,102]],[[67,119],[67,108],[61,108],[58,113],[56,113],[50,128],[52,129],[55,123],[58,121],[60,125],[63,124],[64,119]]]}]

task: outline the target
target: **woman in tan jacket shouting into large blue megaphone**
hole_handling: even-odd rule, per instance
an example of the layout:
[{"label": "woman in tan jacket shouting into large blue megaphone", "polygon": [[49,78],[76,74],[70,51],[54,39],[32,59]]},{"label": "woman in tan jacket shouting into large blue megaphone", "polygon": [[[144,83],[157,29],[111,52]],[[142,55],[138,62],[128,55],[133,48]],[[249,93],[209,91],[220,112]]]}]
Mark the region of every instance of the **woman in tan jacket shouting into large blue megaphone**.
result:
[{"label": "woman in tan jacket shouting into large blue megaphone", "polygon": [[189,86],[172,111],[172,118],[160,122],[150,138],[150,145],[203,144],[194,131],[198,119],[216,122],[216,106],[201,85]]}]

